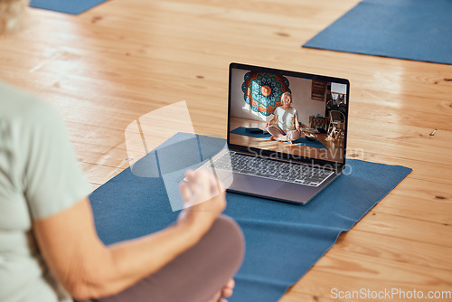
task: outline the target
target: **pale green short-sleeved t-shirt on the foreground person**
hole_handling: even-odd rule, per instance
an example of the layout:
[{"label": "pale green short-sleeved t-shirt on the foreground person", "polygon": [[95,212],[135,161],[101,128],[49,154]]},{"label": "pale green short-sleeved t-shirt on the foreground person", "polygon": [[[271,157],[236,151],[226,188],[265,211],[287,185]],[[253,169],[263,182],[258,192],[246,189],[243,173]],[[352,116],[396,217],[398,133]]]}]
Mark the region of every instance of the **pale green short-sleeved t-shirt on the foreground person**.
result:
[{"label": "pale green short-sleeved t-shirt on the foreground person", "polygon": [[57,110],[0,82],[0,301],[71,301],[42,260],[32,222],[88,193]]}]

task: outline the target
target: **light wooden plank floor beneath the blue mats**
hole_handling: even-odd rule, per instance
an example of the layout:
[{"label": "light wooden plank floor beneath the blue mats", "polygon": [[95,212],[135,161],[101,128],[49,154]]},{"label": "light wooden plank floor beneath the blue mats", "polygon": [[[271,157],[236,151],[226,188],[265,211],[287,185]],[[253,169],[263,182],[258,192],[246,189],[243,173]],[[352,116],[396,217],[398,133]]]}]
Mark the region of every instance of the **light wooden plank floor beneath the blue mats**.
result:
[{"label": "light wooden plank floor beneath the blue mats", "polygon": [[186,100],[194,131],[225,137],[231,61],[347,78],[348,147],[413,172],[280,301],[342,300],[333,288],[450,291],[452,66],[300,47],[357,2],[111,0],[78,16],[33,9],[28,31],[0,38],[0,79],[61,109],[95,189],[128,166],[125,130],[152,110]]}]

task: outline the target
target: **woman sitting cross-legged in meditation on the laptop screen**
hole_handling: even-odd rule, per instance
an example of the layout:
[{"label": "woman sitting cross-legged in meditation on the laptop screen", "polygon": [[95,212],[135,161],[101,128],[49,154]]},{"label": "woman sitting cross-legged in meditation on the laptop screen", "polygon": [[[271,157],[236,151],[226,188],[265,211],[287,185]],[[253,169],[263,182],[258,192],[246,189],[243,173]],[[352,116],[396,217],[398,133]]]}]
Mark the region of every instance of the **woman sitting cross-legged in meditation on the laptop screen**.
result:
[{"label": "woman sitting cross-legged in meditation on the laptop screen", "polygon": [[273,112],[274,118],[265,124],[271,140],[287,141],[290,144],[301,137],[300,124],[298,123],[298,111],[290,107],[292,95],[284,92],[281,95],[282,106]]}]

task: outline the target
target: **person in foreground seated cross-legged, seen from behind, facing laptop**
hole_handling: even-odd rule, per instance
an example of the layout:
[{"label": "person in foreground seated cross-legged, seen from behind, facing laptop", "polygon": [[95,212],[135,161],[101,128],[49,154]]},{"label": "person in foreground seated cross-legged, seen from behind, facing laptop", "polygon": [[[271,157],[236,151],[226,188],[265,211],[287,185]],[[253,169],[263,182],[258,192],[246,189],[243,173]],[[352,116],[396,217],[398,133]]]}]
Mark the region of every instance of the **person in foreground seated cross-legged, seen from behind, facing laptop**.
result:
[{"label": "person in foreground seated cross-legged, seen from behind, facing laptop", "polygon": [[[28,5],[0,0],[0,35]],[[105,246],[89,186],[52,106],[0,82],[1,301],[223,301],[243,258],[225,194],[205,172],[181,184],[184,209],[163,231]]]}]

